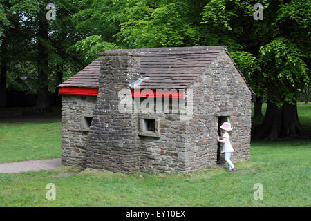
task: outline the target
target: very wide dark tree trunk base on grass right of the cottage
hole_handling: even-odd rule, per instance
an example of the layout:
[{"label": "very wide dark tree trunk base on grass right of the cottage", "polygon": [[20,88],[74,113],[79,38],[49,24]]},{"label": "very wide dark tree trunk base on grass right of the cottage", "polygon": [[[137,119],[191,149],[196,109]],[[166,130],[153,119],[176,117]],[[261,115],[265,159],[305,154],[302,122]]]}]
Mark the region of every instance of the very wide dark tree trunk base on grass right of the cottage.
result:
[{"label": "very wide dark tree trunk base on grass right of the cottage", "polygon": [[267,102],[267,111],[257,138],[276,140],[283,137],[302,136],[302,127],[298,119],[297,104],[284,103],[279,108]]}]

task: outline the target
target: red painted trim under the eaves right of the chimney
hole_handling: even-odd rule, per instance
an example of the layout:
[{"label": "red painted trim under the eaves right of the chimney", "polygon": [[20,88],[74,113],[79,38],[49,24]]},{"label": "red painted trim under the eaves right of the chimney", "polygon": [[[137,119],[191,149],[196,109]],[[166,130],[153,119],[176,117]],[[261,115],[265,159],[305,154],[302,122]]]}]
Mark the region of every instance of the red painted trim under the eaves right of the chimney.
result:
[{"label": "red painted trim under the eaves right of the chimney", "polygon": [[184,98],[184,90],[160,91],[156,90],[132,90],[132,97],[162,97],[162,98]]}]

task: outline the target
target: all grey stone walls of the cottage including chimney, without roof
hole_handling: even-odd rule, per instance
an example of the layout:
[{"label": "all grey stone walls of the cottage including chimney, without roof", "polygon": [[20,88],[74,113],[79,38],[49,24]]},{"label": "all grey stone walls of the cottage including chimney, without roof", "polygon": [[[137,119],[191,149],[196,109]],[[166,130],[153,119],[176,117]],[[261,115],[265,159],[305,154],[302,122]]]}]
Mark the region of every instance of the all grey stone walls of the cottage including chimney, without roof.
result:
[{"label": "all grey stone walls of the cottage including chimney, without roof", "polygon": [[[140,57],[104,54],[100,62],[97,102],[96,97],[63,95],[63,164],[123,173],[215,166],[219,116],[232,123],[232,161],[249,160],[251,93],[225,51],[187,89],[193,90],[190,118],[179,113],[120,113],[118,92],[142,77]],[[81,117],[87,115],[94,115],[89,132],[82,131]],[[145,131],[144,119],[155,120],[154,132]]]}]

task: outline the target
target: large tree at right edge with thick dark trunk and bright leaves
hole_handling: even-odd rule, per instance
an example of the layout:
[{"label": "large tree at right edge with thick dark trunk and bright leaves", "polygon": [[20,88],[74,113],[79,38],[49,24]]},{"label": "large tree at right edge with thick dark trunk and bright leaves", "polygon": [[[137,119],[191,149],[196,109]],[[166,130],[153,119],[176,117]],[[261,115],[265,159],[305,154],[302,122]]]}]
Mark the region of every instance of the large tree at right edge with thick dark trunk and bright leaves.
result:
[{"label": "large tree at right edge with thick dark trunk and bright leaves", "polygon": [[310,84],[309,14],[309,1],[274,1],[265,12],[272,27],[270,41],[260,48],[268,102],[258,137],[303,135],[296,99]]}]

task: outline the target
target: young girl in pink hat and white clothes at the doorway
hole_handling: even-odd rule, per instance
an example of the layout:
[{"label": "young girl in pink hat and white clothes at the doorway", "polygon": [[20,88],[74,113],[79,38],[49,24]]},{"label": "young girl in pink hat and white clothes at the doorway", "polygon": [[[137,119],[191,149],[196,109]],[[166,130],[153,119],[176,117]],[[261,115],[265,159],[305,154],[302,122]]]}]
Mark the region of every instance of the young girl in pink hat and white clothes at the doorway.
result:
[{"label": "young girl in pink hat and white clothes at the doorway", "polygon": [[234,167],[234,164],[232,164],[230,160],[230,157],[232,153],[234,152],[234,148],[232,148],[232,145],[230,144],[230,138],[229,138],[229,133],[231,134],[231,131],[232,131],[231,124],[229,122],[224,122],[223,125],[220,126],[220,128],[221,128],[221,132],[223,133],[223,137],[219,137],[217,135],[217,140],[218,142],[223,143],[223,148],[221,150],[221,153],[225,152],[225,161],[229,165],[229,170],[227,172],[234,172],[236,171],[236,168]]}]

